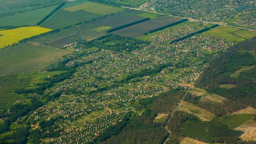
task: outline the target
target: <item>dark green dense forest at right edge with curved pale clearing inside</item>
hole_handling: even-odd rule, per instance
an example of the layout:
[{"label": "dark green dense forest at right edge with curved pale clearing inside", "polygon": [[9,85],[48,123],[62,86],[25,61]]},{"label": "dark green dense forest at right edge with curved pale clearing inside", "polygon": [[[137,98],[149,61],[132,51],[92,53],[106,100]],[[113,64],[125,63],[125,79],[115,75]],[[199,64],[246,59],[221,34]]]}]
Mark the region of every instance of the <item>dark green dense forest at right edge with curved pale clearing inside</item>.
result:
[{"label": "dark green dense forest at right edge with curved pale clearing inside", "polygon": [[256,37],[235,44],[209,62],[195,86],[256,107],[255,52]]}]

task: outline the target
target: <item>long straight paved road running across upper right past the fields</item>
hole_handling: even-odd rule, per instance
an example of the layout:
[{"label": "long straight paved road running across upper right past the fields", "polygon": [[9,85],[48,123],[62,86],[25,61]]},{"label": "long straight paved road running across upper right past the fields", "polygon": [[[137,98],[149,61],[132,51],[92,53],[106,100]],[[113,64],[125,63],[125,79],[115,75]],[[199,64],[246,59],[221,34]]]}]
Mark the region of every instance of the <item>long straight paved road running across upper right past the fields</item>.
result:
[{"label": "long straight paved road running across upper right past the fields", "polygon": [[[148,11],[148,10],[145,10],[145,9],[139,9],[139,8],[133,8],[133,7],[123,7],[123,8],[135,9],[135,10],[140,10],[140,11],[144,11],[144,12],[151,12],[151,13],[155,13],[155,14],[163,14],[163,13],[159,13],[159,12],[152,12],[152,11]],[[213,24],[218,24],[220,26],[228,26],[228,27],[232,27],[232,28],[240,28],[240,29],[250,30],[250,31],[256,32],[256,30],[254,30],[254,29],[243,28],[243,27],[239,27],[239,26],[230,26],[230,25],[227,25],[225,23],[218,23],[218,22],[212,22],[212,21],[202,21],[202,20],[199,20],[199,19],[192,19],[192,18],[181,17],[181,16],[173,16],[173,15],[168,15],[168,16],[172,16],[172,17],[176,17],[176,18],[181,18],[181,19],[189,19],[190,21],[200,21],[200,22],[204,22],[204,23],[213,23]]]}]

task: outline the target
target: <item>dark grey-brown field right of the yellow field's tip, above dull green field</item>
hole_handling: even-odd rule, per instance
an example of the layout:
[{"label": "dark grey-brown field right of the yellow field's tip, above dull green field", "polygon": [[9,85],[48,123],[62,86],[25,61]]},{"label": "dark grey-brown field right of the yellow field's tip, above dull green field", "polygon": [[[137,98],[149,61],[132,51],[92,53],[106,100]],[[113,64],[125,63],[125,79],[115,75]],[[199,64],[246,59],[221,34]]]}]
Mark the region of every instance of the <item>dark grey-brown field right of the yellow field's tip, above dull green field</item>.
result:
[{"label": "dark grey-brown field right of the yellow field's tip, above dull green field", "polygon": [[33,39],[31,42],[59,47],[78,41],[80,39],[79,35],[81,35],[82,39],[89,41],[97,37],[103,36],[104,34],[92,30],[74,27],[58,33],[40,37],[38,39]]}]

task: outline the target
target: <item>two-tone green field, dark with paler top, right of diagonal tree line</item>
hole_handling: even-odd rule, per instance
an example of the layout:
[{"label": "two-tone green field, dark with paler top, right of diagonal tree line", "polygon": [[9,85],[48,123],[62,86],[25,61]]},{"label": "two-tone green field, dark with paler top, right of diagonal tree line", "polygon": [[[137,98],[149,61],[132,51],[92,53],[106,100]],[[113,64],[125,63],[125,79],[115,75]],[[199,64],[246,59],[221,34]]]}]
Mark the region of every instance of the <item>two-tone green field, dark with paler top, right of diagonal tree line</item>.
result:
[{"label": "two-tone green field, dark with paler top, right of diagonal tree line", "polygon": [[[93,7],[97,7],[98,10]],[[64,28],[67,26],[72,26],[76,23],[90,21],[106,14],[116,13],[121,10],[123,10],[123,8],[88,2],[85,0],[77,0],[68,2],[46,21],[44,21],[41,26],[52,29]]]}]

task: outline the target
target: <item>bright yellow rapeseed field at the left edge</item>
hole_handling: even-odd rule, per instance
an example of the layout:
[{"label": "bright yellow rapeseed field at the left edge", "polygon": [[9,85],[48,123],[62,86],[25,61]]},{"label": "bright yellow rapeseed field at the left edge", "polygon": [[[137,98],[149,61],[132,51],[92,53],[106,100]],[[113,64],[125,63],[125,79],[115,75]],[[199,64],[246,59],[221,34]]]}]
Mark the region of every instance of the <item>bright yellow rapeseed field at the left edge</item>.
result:
[{"label": "bright yellow rapeseed field at the left edge", "polygon": [[42,28],[40,26],[27,26],[21,28],[14,28],[10,30],[0,30],[0,49],[13,44],[21,39],[39,35],[51,31],[49,28]]}]

